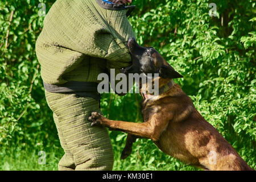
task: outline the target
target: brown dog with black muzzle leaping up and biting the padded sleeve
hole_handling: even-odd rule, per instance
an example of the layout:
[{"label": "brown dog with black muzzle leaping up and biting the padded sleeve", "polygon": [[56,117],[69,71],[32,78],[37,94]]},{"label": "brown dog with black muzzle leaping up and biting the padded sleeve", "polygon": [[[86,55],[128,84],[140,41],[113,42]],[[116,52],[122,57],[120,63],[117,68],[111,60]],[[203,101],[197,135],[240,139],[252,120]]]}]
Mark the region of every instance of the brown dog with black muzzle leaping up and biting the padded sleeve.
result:
[{"label": "brown dog with black muzzle leaping up and biting the padded sleeve", "polygon": [[142,137],[152,139],[164,153],[206,170],[253,170],[174,84],[172,79],[182,76],[154,48],[141,47],[134,38],[127,46],[133,65],[122,72],[159,73],[159,95],[141,93],[142,123],[113,121],[95,112],[89,117],[92,126],[100,123],[128,133],[123,159],[130,155],[135,138]]}]

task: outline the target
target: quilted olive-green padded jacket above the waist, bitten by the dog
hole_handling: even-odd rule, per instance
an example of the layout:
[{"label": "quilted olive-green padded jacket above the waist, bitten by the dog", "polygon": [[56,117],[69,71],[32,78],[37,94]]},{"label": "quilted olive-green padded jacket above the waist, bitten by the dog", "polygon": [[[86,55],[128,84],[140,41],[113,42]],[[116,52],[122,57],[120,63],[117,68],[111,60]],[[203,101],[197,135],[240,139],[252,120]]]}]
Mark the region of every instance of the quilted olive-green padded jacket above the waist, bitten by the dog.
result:
[{"label": "quilted olive-green padded jacket above the waist, bitten by the dog", "polygon": [[135,35],[126,12],[104,9],[95,0],[57,0],[36,41],[43,81],[100,82],[99,73],[129,66],[127,40]]}]

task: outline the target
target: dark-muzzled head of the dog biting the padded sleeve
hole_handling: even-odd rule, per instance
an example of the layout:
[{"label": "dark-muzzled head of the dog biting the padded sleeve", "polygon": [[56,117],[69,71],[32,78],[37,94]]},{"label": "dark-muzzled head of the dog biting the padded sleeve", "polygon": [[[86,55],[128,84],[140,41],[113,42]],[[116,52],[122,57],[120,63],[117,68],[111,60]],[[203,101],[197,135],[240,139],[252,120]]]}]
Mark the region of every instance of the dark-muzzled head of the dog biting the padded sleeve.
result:
[{"label": "dark-muzzled head of the dog biting the padded sleeve", "polygon": [[123,73],[159,73],[162,78],[181,78],[170,64],[153,47],[142,47],[134,38],[128,40],[127,46],[133,59],[133,65],[121,69]]}]

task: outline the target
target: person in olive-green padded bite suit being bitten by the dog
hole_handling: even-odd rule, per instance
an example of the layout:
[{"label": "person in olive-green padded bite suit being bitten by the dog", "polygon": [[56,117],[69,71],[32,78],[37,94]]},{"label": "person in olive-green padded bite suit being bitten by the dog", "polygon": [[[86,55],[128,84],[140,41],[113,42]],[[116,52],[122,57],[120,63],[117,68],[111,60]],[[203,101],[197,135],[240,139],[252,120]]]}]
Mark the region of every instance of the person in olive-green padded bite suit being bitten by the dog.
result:
[{"label": "person in olive-green padded bite suit being bitten by the dog", "polygon": [[131,0],[57,0],[36,40],[48,106],[64,156],[59,170],[112,170],[105,127],[90,127],[100,111],[97,76],[131,64],[127,41],[135,37],[127,16]]}]

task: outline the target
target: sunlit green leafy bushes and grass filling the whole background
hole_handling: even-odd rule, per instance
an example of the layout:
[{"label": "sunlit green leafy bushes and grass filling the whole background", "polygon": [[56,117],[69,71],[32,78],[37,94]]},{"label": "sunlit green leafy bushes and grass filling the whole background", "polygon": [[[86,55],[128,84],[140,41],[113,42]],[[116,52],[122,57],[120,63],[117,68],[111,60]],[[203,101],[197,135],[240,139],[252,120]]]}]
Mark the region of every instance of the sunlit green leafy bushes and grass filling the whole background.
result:
[{"label": "sunlit green leafy bushes and grass filling the whole background", "polygon": [[[0,2],[0,169],[57,169],[63,155],[52,111],[44,98],[35,41],[43,26],[40,2]],[[134,0],[129,20],[144,46],[153,46],[184,76],[177,79],[205,119],[255,168],[255,2]],[[13,15],[12,15],[13,14]],[[104,94],[110,119],[142,121],[138,94]],[[137,139],[120,160],[126,134],[110,131],[115,170],[194,170],[163,154],[151,140]],[[46,151],[46,165],[38,152]],[[20,163],[22,162],[22,165]]]}]

